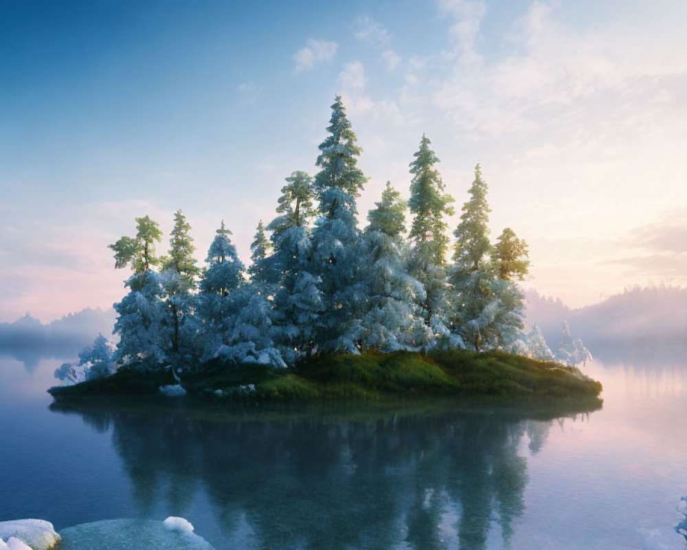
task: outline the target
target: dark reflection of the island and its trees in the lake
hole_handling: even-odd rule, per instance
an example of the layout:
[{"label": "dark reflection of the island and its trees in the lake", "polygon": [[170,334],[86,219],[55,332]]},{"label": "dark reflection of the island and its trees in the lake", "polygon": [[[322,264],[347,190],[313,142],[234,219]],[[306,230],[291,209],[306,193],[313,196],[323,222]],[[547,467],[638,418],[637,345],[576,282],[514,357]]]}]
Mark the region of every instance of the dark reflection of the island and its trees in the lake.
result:
[{"label": "dark reflection of the island and its trees in the lake", "polygon": [[507,547],[524,509],[526,445],[538,452],[561,414],[218,420],[190,409],[51,408],[113,430],[142,516],[159,500],[188,515],[203,490],[222,538],[264,549],[479,550],[488,536]]}]

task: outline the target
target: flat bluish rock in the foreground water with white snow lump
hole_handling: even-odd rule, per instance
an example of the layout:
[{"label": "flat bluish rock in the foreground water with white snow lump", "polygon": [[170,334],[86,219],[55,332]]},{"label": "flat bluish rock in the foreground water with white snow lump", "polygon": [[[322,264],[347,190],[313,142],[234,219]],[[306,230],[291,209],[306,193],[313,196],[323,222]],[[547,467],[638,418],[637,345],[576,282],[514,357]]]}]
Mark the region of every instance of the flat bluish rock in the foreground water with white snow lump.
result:
[{"label": "flat bluish rock in the foreground water with white snow lump", "polygon": [[[168,521],[173,526],[168,528]],[[190,528],[190,530],[189,530]],[[83,523],[62,531],[61,550],[214,550],[192,532],[183,518],[155,520],[105,520]]]}]

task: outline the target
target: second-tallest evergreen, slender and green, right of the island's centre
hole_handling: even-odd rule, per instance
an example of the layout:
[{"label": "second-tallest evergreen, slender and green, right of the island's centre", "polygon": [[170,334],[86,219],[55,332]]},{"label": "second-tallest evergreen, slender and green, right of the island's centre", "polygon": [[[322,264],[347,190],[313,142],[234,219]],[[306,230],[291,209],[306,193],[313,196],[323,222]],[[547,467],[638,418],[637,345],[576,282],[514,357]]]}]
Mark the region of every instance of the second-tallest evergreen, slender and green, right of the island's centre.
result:
[{"label": "second-tallest evergreen, slender and green, right of the island's centre", "polygon": [[[410,163],[413,179],[408,206],[414,214],[409,239],[412,243],[410,274],[425,287],[425,297],[417,300],[419,314],[425,321],[425,334],[416,334],[418,343],[431,347],[436,339],[449,337],[446,251],[449,239],[444,216],[453,214],[453,197],[446,191],[436,168],[439,159],[423,135],[420,148]],[[422,342],[422,339],[425,342]]]}]

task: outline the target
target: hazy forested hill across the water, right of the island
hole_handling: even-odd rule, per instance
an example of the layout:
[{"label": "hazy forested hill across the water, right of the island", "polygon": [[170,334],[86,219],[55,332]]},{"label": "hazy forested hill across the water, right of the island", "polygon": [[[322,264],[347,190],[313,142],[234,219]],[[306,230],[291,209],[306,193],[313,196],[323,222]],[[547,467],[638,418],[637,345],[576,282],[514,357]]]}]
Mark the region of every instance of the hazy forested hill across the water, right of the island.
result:
[{"label": "hazy forested hill across the water, right of the island", "polygon": [[601,303],[570,309],[561,300],[526,292],[528,327],[536,322],[556,347],[563,320],[591,346],[687,344],[687,288],[635,287]]}]

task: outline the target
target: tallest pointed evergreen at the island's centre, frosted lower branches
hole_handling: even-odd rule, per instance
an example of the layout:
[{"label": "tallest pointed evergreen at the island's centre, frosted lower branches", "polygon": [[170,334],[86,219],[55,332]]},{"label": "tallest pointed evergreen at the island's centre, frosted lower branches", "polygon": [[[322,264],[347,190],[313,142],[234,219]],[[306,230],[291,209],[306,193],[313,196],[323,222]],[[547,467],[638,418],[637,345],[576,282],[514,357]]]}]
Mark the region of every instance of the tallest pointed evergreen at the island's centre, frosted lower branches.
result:
[{"label": "tallest pointed evergreen at the island's centre, frosted lower branches", "polygon": [[320,349],[357,351],[359,307],[357,284],[363,264],[355,199],[367,181],[357,166],[361,149],[346,118],[341,96],[332,105],[328,137],[319,145],[319,212],[313,230],[313,275],[319,277],[322,311],[317,320]]}]

